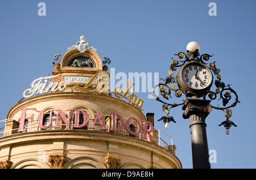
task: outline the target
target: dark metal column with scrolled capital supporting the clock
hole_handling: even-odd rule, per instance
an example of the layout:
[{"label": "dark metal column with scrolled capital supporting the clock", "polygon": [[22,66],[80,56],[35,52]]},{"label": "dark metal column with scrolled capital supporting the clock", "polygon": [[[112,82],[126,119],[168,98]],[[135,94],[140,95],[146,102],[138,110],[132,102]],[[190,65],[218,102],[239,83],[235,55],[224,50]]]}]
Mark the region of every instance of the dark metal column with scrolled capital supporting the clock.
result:
[{"label": "dark metal column with scrolled capital supporting the clock", "polygon": [[188,99],[183,106],[183,118],[190,118],[194,169],[210,169],[205,118],[210,113],[210,100]]}]

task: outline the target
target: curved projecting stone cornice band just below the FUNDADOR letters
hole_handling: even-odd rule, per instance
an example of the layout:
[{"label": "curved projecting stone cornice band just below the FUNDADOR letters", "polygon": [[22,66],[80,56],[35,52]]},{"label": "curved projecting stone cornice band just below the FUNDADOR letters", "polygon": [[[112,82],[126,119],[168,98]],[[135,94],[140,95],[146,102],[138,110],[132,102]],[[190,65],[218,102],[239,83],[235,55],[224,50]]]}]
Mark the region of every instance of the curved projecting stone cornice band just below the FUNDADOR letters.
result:
[{"label": "curved projecting stone cornice band just below the FUNDADOR letters", "polygon": [[0,138],[0,149],[6,145],[20,145],[23,143],[37,143],[43,141],[65,141],[65,140],[86,140],[92,142],[109,142],[113,144],[122,144],[126,148],[135,147],[141,151],[154,152],[154,155],[162,156],[164,158],[171,158],[174,166],[181,168],[179,159],[167,149],[160,147],[158,144],[149,142],[147,140],[134,138],[126,135],[115,134],[105,131],[87,131],[87,130],[47,130],[24,132],[13,134]]}]

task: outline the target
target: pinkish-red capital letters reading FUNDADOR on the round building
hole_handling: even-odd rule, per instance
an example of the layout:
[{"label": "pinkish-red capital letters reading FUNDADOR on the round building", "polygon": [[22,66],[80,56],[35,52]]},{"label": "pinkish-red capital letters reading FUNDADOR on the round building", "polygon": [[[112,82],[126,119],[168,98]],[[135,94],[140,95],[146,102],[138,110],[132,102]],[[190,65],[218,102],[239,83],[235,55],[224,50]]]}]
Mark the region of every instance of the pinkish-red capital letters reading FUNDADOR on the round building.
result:
[{"label": "pinkish-red capital letters reading FUNDADOR on the round building", "polygon": [[[47,129],[51,126],[52,123],[52,113],[54,111],[56,111],[56,125],[54,128],[60,128],[59,127],[59,117],[61,119],[63,119],[63,122],[65,123],[66,127],[69,128],[69,122],[70,122],[70,117],[71,117],[71,110],[67,110],[68,114],[67,116],[64,114],[64,112],[60,109],[57,110],[49,110],[50,113],[50,117],[49,117],[49,124],[47,126],[43,125],[43,116],[44,116],[44,112],[46,112],[45,110],[37,110],[36,108],[24,108],[21,109],[21,115],[20,115],[20,122],[19,122],[19,130],[18,132],[23,132],[25,131],[25,120],[26,119],[31,119],[31,121],[34,121],[34,114],[31,117],[26,117],[26,111],[27,110],[34,110],[35,112],[39,113],[39,119],[38,119],[38,126],[42,129]],[[75,123],[73,125],[73,128],[81,128],[84,127],[88,124],[89,121],[89,117],[88,114],[81,109],[75,109]],[[84,121],[82,122],[81,125],[79,125],[79,114],[82,113],[84,115]],[[131,135],[139,135],[142,132],[142,128],[143,128],[143,139],[147,139],[150,138],[151,142],[155,142],[155,140],[153,139],[151,132],[153,132],[154,127],[152,125],[152,123],[148,122],[148,121],[142,121],[143,125],[141,125],[141,122],[139,122],[139,120],[137,118],[134,117],[130,117],[127,118],[126,121],[123,121],[123,118],[121,117],[121,115],[116,114],[116,113],[110,113],[111,117],[112,117],[112,122],[111,122],[111,128],[110,131],[114,131],[114,132],[118,132],[121,131],[123,129],[123,127],[125,127],[126,131],[128,131]],[[119,118],[119,127],[117,127],[117,117]],[[98,121],[97,121],[98,120]],[[129,124],[130,121],[135,121],[137,123],[137,127],[138,130],[137,132],[133,132],[130,130]],[[101,130],[108,130],[108,128],[105,125],[104,119],[102,118],[102,114],[101,112],[98,112],[96,118],[94,119],[92,125],[90,125],[89,128],[94,129],[95,125],[100,125],[101,126]],[[150,127],[148,129],[148,126]]]}]

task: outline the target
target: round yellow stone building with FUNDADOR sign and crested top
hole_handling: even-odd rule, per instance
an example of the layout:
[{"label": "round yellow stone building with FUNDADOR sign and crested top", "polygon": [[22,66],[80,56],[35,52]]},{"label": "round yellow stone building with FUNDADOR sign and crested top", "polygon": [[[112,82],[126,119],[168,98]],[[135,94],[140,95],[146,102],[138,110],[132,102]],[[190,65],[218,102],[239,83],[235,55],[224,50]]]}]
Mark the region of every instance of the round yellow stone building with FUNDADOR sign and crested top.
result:
[{"label": "round yellow stone building with FUNDADOR sign and crested top", "polygon": [[154,128],[154,113],[142,113],[143,101],[110,92],[110,75],[85,38],[59,65],[7,114],[0,168],[181,168],[175,145]]}]

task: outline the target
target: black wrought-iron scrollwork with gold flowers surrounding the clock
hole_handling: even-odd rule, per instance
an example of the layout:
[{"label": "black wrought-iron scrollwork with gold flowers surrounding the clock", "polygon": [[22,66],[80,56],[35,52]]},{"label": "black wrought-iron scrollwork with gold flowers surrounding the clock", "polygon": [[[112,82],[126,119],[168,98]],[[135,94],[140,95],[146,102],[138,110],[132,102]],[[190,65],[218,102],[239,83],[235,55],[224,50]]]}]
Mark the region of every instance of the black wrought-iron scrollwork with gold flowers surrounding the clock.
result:
[{"label": "black wrought-iron scrollwork with gold flowers surrounding the clock", "polygon": [[[187,52],[187,54],[183,52],[179,52],[174,55],[177,55],[177,57],[181,60],[178,61],[172,58],[172,63],[170,65],[170,71],[168,72],[167,78],[166,79],[160,78],[161,82],[159,84],[156,84],[153,89],[153,95],[155,99],[163,103],[163,106],[162,106],[163,112],[166,112],[167,114],[166,116],[163,116],[158,120],[158,121],[163,121],[164,123],[171,122],[171,121],[175,122],[174,117],[171,117],[168,115],[170,113],[170,109],[175,108],[176,106],[184,105],[185,101],[188,98],[186,92],[184,92],[182,89],[175,88],[176,78],[172,76],[174,74],[174,71],[177,70],[177,67],[181,67],[185,65],[185,63],[187,62],[199,62],[199,63],[203,63],[204,65],[208,65],[208,63],[206,62],[209,61],[210,57],[213,57],[213,55],[209,55],[209,54],[200,55],[198,51],[195,51],[193,53]],[[230,108],[236,106],[237,103],[240,101],[238,101],[238,95],[236,91],[234,91],[230,87],[231,84],[225,85],[225,83],[221,81],[220,68],[217,68],[215,63],[216,61],[209,63],[208,68],[213,72],[214,75],[216,75],[217,79],[214,81],[214,85],[216,86],[216,89],[215,91],[212,91],[212,88],[213,88],[212,87],[208,92],[205,92],[203,95],[203,99],[207,100],[207,98],[209,98],[209,100],[216,100],[216,99],[222,100],[223,106],[219,106],[219,105],[218,106],[210,105],[210,106],[213,109],[223,110],[223,111],[226,110],[226,115],[225,115],[226,121],[222,122],[221,125],[224,125],[224,127],[226,127],[228,130],[231,126],[236,127],[236,125],[229,120],[229,118],[232,116],[232,110],[230,110]],[[164,100],[161,100],[160,97],[156,95],[155,93],[156,88],[159,88],[159,94],[164,98]],[[174,102],[173,104],[166,102],[166,100],[170,100],[171,98],[173,98],[171,95],[172,91],[175,97],[181,97],[182,95],[184,95],[185,100],[181,100],[181,102],[179,103]],[[232,100],[233,102],[232,104],[230,104],[230,101]]]}]

